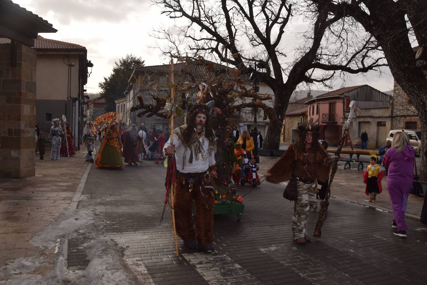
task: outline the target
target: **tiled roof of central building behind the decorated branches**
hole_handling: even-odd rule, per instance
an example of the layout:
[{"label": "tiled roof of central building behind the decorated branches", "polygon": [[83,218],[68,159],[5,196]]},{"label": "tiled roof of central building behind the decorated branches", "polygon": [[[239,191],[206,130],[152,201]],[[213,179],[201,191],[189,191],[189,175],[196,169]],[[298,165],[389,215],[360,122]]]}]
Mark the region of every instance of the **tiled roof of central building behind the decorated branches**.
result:
[{"label": "tiled roof of central building behind the decorated branches", "polygon": [[[190,72],[193,74],[195,79],[211,79],[213,76],[218,76],[218,73],[225,73],[225,80],[234,81],[236,78],[228,74],[230,69],[233,67],[228,67],[225,65],[220,65],[214,63],[213,71],[208,71],[208,65],[211,63],[209,61],[205,61],[205,65],[190,65]],[[191,62],[188,62],[191,64]],[[187,67],[187,62],[179,62],[173,65],[174,71],[178,73],[180,70],[184,70]],[[135,71],[164,71],[170,72],[170,64],[167,65],[150,65],[150,66],[141,66],[139,68],[135,68]],[[240,76],[243,80],[247,81],[249,77],[247,75]]]}]

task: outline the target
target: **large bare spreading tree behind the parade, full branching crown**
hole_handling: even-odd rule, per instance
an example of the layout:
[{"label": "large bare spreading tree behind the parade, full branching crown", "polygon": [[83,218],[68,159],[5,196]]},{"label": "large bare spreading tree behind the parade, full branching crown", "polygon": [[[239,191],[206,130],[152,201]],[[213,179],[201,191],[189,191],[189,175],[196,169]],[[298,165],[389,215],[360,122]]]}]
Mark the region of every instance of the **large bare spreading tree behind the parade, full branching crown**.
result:
[{"label": "large bare spreading tree behind the parade, full branching crown", "polygon": [[[152,35],[167,40],[160,47],[174,57],[190,56],[216,59],[240,71],[252,74],[251,80],[268,85],[274,97],[274,112],[267,115],[270,124],[266,148],[278,149],[283,123],[292,92],[300,84],[322,83],[329,86],[336,72],[367,72],[386,65],[377,56],[380,47],[373,38],[357,32],[358,23],[331,14],[329,3],[308,0],[152,0],[163,7],[163,14],[179,18],[174,29],[163,27]],[[284,52],[289,25],[293,18],[309,23],[301,35],[292,59]],[[259,68],[256,70],[256,68]]]}]

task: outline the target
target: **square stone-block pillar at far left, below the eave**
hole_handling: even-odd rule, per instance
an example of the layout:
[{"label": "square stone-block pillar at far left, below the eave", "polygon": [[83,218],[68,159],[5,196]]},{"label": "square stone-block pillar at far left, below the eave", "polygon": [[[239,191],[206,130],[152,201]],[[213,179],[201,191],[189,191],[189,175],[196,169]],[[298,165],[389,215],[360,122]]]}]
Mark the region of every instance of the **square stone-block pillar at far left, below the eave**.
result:
[{"label": "square stone-block pillar at far left, below the eave", "polygon": [[[16,66],[11,49],[16,50]],[[35,175],[36,52],[17,42],[0,45],[0,177]]]}]

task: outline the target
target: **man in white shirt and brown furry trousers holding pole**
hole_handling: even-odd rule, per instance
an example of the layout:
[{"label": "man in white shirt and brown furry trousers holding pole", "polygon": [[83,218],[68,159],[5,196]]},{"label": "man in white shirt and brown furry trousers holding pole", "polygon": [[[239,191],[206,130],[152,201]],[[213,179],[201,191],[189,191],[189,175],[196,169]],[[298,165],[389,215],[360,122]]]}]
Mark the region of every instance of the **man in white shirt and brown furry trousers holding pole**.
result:
[{"label": "man in white shirt and brown furry trousers holding pole", "polygon": [[[216,177],[215,133],[209,124],[209,109],[195,105],[187,117],[187,124],[173,131],[164,145],[164,153],[175,153],[177,181],[174,206],[176,231],[188,248],[196,246],[203,253],[213,251],[213,205]],[[196,207],[196,231],[193,228],[191,208]]]}]

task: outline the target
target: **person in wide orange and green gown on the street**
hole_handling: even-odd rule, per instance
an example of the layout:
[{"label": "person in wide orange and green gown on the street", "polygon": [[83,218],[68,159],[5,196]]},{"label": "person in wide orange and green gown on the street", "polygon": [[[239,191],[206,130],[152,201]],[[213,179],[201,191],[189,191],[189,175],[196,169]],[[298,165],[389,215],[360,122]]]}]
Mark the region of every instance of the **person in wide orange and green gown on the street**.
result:
[{"label": "person in wide orange and green gown on the street", "polygon": [[99,147],[98,156],[95,159],[97,167],[121,168],[123,166],[121,148],[120,132],[117,125],[113,123],[105,132]]}]

